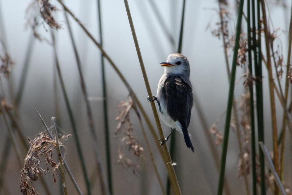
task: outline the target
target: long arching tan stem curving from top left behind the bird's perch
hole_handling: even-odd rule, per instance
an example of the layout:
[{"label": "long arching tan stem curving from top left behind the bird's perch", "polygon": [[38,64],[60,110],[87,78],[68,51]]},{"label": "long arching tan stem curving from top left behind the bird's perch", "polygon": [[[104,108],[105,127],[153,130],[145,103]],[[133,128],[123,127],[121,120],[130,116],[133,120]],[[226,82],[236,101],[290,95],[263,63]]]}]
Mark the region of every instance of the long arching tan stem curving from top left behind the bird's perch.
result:
[{"label": "long arching tan stem curving from top left behind the bird's perch", "polygon": [[[93,43],[99,48],[99,50],[101,51],[101,53],[103,54],[104,58],[108,60],[108,62],[110,63],[110,65],[112,66],[112,68],[114,69],[114,71],[116,72],[116,74],[120,77],[121,81],[123,82],[123,84],[125,85],[125,87],[127,88],[127,90],[129,91],[130,96],[132,97],[132,99],[135,101],[135,103],[137,104],[139,110],[142,113],[142,116],[147,124],[147,126],[150,129],[151,135],[153,137],[154,140],[158,140],[158,136],[154,130],[153,125],[151,124],[151,121],[148,117],[148,115],[146,114],[145,109],[143,108],[141,102],[138,100],[136,94],[134,93],[133,89],[131,88],[131,86],[129,85],[129,82],[125,79],[125,77],[123,76],[123,74],[121,73],[121,71],[118,69],[118,67],[116,66],[116,64],[112,61],[112,59],[108,56],[108,54],[103,50],[103,48],[100,46],[100,44],[94,39],[94,37],[91,35],[91,33],[89,33],[89,31],[84,27],[84,25],[80,22],[80,20],[69,10],[69,8],[61,2],[61,0],[57,0],[65,9],[65,11],[67,13],[69,13],[72,18],[77,22],[77,24],[84,30],[84,32],[87,34],[87,36],[91,39],[91,41],[93,41]],[[158,141],[155,141],[155,144],[159,150],[159,153],[165,163],[165,165],[168,163],[166,156],[163,153],[163,149],[162,147],[159,145]]]}]

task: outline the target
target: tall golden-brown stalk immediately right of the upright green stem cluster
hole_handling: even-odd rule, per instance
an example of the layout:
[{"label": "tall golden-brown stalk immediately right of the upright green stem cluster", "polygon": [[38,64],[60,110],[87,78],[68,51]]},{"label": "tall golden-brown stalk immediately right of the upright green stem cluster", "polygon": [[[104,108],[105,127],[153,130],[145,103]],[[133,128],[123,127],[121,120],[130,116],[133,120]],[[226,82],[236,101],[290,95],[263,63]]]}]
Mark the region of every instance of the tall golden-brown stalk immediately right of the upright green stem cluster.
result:
[{"label": "tall golden-brown stalk immediately right of the upright green stem cluster", "polygon": [[[270,91],[270,102],[271,102],[271,117],[272,117],[272,132],[273,132],[273,163],[275,166],[276,173],[279,175],[279,154],[278,154],[278,144],[277,144],[277,118],[276,118],[276,107],[275,107],[275,96],[274,96],[274,89],[273,89],[273,72],[272,72],[272,64],[271,64],[271,53],[270,53],[270,46],[269,46],[269,29],[267,23],[267,16],[266,16],[266,9],[265,9],[265,2],[261,0],[261,7],[263,13],[263,23],[264,23],[264,35],[265,35],[265,45],[266,45],[266,52],[267,52],[267,68],[268,68],[268,75],[269,75],[269,91]],[[275,184],[275,194],[279,193],[279,189]]]}]

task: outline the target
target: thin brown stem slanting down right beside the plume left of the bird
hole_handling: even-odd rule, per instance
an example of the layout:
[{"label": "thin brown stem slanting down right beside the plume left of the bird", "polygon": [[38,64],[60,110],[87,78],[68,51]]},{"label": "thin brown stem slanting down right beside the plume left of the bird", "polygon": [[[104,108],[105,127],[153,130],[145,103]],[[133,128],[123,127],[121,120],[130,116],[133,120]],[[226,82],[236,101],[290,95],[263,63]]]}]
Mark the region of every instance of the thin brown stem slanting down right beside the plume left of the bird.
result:
[{"label": "thin brown stem slanting down right beside the plume left of the bird", "polygon": [[148,138],[147,138],[147,135],[146,135],[146,131],[145,131],[145,128],[144,128],[143,123],[142,123],[141,116],[140,116],[139,111],[136,108],[136,106],[134,106],[133,108],[134,108],[134,110],[136,112],[136,115],[138,117],[139,124],[140,124],[140,127],[142,129],[142,133],[143,133],[143,136],[144,136],[146,145],[147,145],[147,149],[149,151],[150,159],[151,159],[151,162],[152,162],[153,167],[154,167],[154,172],[155,172],[155,175],[156,175],[157,180],[159,182],[159,186],[161,188],[161,192],[162,192],[163,195],[166,195],[165,190],[164,190],[164,187],[163,187],[163,183],[162,183],[162,180],[161,180],[161,177],[160,177],[159,172],[158,172],[158,168],[157,168],[156,163],[155,163],[155,160],[154,160],[153,152],[151,150],[151,146],[150,146],[150,143],[148,141]]}]

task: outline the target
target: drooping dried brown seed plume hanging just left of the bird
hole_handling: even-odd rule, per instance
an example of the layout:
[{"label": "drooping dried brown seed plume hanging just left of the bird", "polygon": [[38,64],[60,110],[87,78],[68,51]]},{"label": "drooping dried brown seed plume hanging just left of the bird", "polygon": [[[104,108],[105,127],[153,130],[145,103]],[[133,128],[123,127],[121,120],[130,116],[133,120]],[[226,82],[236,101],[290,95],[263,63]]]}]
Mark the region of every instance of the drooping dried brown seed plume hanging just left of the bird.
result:
[{"label": "drooping dried brown seed plume hanging just left of the bird", "polygon": [[[133,124],[130,120],[129,113],[131,110],[134,109],[134,104],[131,98],[128,98],[127,101],[122,101],[118,105],[118,110],[120,112],[120,115],[116,117],[116,120],[120,121],[119,124],[116,127],[116,133],[115,137],[117,137],[117,134],[122,134],[122,138],[120,141],[119,146],[119,157],[118,157],[118,163],[121,164],[123,167],[126,168],[133,168],[133,173],[137,174],[140,167],[139,165],[133,163],[133,161],[129,158],[125,157],[125,154],[123,152],[123,146],[126,145],[129,148],[129,151],[132,152],[132,155],[138,157],[138,159],[143,158],[142,152],[143,148],[139,144],[138,139],[134,136],[134,129]],[[121,132],[121,130],[123,131]]]}]

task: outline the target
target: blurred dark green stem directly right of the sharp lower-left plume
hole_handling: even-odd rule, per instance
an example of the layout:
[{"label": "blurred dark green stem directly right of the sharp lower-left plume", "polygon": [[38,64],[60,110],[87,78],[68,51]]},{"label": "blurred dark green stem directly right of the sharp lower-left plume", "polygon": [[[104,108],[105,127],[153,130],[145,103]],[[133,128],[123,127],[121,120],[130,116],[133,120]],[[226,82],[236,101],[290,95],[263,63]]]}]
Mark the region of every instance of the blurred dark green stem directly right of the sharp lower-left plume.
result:
[{"label": "blurred dark green stem directly right of the sharp lower-left plume", "polygon": [[65,89],[65,84],[64,84],[64,80],[62,77],[62,73],[61,73],[61,69],[60,69],[60,65],[59,65],[59,61],[58,61],[58,57],[57,57],[57,50],[55,47],[55,38],[54,38],[54,34],[53,34],[53,30],[51,29],[51,36],[52,36],[52,40],[53,40],[53,52],[56,58],[56,68],[57,68],[57,73],[58,73],[58,77],[59,77],[59,81],[60,81],[60,85],[61,85],[61,90],[65,99],[65,103],[66,103],[66,108],[69,114],[69,119],[70,119],[70,123],[71,126],[73,128],[73,132],[74,132],[74,140],[75,140],[75,144],[77,147],[77,152],[78,152],[78,156],[79,156],[79,160],[81,163],[81,167],[82,167],[82,171],[83,171],[83,177],[85,180],[85,184],[86,184],[86,188],[87,188],[87,193],[90,195],[91,194],[91,190],[90,190],[90,183],[88,180],[88,175],[87,175],[87,171],[86,171],[86,164],[85,164],[85,160],[83,157],[83,153],[82,153],[82,149],[81,149],[81,144],[79,141],[79,135],[77,132],[77,128],[76,128],[76,124],[75,124],[75,120],[74,120],[74,116],[73,116],[73,112],[69,103],[69,98]]}]

